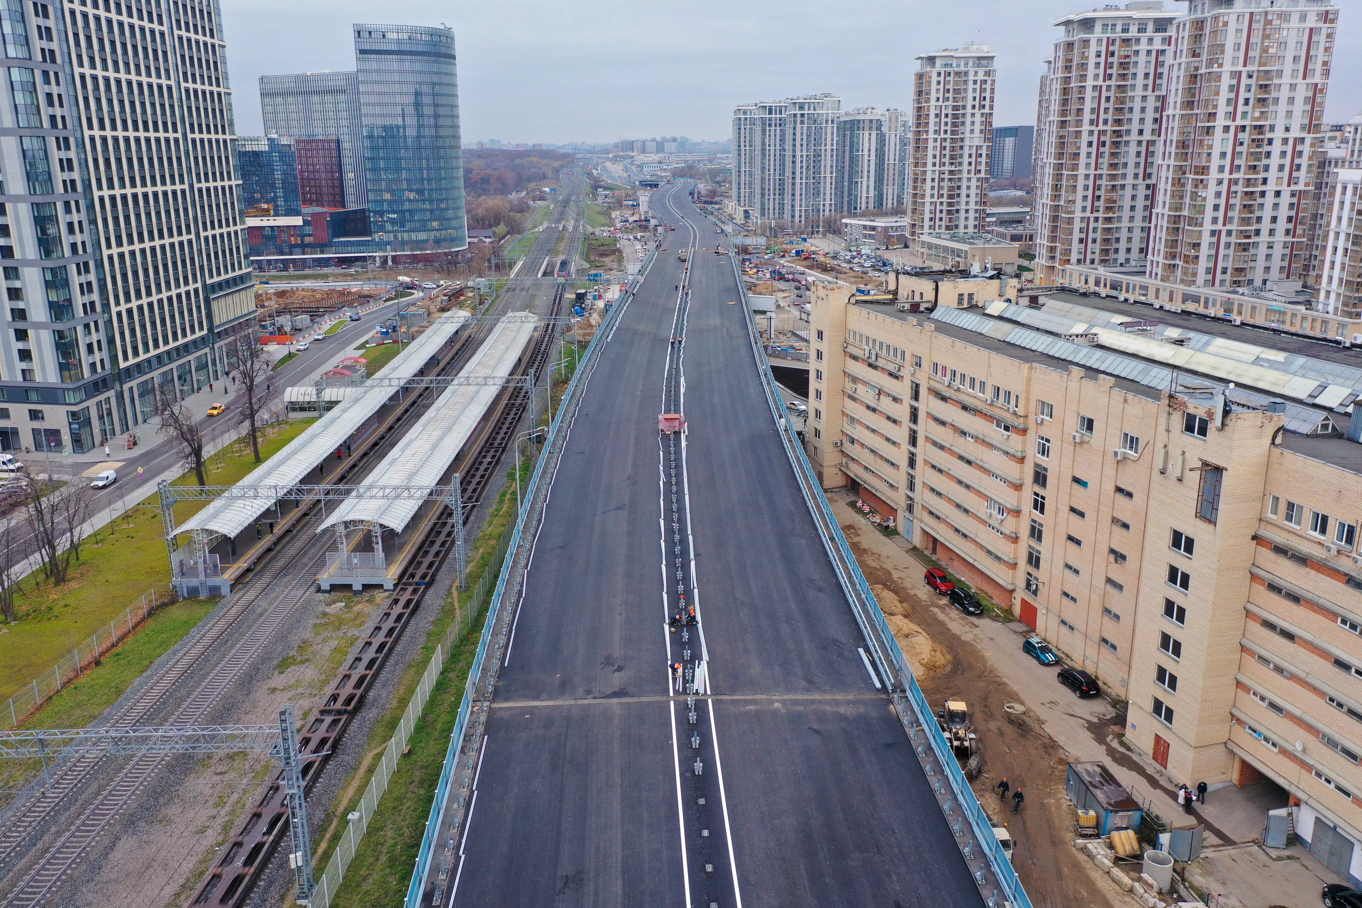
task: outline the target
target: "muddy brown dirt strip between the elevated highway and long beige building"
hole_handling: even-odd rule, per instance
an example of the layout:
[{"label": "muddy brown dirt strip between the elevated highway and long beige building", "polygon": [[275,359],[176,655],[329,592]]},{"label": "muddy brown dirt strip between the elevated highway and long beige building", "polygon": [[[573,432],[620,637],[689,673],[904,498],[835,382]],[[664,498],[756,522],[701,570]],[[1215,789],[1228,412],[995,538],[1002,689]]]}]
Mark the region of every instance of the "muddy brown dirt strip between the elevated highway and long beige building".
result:
[{"label": "muddy brown dirt strip between the elevated highway and long beige building", "polygon": [[[928,594],[922,585],[922,565],[854,515],[844,496],[832,494],[829,500],[928,701],[964,700],[970,705],[985,760],[983,775],[974,790],[994,818],[1005,821],[1017,843],[1013,863],[1032,904],[1046,908],[1133,905],[1129,896],[1072,845],[1073,807],[1064,796],[1069,757],[1030,709],[1017,715],[1002,708],[1008,702],[1061,696],[1066,690],[1058,685],[1032,689],[1023,683],[1026,696],[1020,694],[1013,679],[1002,677],[989,655],[957,629],[962,622],[989,618],[962,615],[944,598]],[[1004,776],[1013,790],[1020,787],[1026,792],[1020,814],[1011,813],[1011,799],[1007,815],[1002,814],[994,785]]]}]

